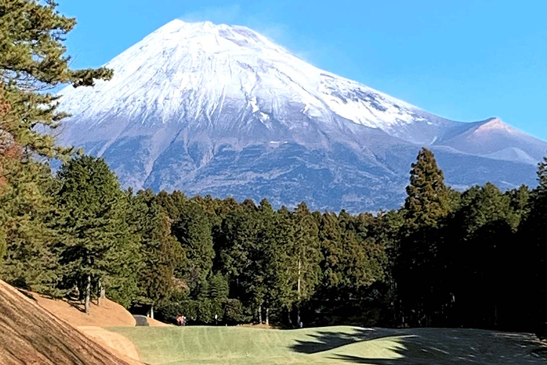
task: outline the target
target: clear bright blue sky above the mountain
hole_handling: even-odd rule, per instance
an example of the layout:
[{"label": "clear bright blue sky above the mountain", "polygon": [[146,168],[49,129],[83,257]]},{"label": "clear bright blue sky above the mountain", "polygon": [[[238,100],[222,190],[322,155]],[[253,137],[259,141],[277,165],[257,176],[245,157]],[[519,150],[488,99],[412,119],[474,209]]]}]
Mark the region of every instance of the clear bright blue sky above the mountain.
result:
[{"label": "clear bright blue sky above the mountain", "polygon": [[74,67],[99,66],[179,18],[246,25],[322,69],[457,121],[547,140],[545,0],[58,0]]}]

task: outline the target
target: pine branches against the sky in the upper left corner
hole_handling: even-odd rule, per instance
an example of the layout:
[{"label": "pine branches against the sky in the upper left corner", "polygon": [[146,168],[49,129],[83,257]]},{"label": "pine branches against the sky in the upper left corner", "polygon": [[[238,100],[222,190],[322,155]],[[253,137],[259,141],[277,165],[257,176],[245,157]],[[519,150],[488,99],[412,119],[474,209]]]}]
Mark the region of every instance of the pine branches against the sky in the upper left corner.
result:
[{"label": "pine branches against the sky in the upper left corner", "polygon": [[69,69],[63,41],[75,24],[57,12],[53,0],[0,0],[0,105],[9,105],[0,119],[0,141],[11,140],[27,154],[62,157],[69,152],[43,133],[65,116],[57,112],[57,96],[49,90],[65,83],[93,85],[97,78],[112,76],[107,69]]}]

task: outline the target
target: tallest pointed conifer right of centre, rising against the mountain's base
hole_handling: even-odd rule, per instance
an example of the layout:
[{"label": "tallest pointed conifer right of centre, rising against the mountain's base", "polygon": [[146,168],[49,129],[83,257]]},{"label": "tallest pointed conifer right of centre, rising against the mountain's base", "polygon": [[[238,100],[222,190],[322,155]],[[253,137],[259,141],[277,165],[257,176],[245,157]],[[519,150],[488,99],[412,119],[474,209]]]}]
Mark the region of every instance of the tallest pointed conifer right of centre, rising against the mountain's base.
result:
[{"label": "tallest pointed conifer right of centre, rising against the mountain's base", "polygon": [[422,148],[410,171],[406,187],[403,227],[397,264],[398,299],[404,321],[429,326],[438,307],[436,290],[443,287],[440,275],[444,247],[439,228],[450,212],[449,190],[433,153]]}]

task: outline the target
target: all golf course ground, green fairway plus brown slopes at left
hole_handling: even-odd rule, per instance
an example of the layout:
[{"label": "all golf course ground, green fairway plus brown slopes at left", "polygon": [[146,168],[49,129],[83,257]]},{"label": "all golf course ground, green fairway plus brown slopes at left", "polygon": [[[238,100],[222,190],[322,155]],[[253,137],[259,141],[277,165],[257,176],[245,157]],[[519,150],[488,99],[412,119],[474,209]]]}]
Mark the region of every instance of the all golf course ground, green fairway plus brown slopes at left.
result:
[{"label": "all golf course ground, green fairway plus brown slopes at left", "polygon": [[[481,329],[334,326],[271,329],[178,327],[135,318],[112,301],[92,315],[74,303],[0,281],[0,365],[545,364],[536,335]],[[115,324],[111,326],[110,324]]]}]

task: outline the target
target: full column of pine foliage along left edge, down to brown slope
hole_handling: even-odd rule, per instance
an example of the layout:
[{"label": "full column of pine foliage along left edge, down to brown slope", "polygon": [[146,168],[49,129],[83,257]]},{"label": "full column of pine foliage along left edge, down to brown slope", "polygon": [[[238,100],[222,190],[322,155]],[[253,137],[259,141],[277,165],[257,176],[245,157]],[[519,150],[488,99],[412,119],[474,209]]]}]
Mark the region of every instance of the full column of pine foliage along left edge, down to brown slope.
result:
[{"label": "full column of pine foliage along left edge, down to brown slope", "polygon": [[44,220],[50,196],[41,189],[45,167],[32,157],[71,153],[54,145],[53,129],[65,114],[50,90],[112,76],[107,69],[69,68],[63,41],[74,25],[54,1],[0,0],[0,256],[7,252],[5,278],[49,294],[59,280],[48,247],[54,232]]}]

